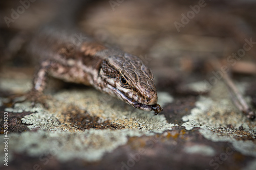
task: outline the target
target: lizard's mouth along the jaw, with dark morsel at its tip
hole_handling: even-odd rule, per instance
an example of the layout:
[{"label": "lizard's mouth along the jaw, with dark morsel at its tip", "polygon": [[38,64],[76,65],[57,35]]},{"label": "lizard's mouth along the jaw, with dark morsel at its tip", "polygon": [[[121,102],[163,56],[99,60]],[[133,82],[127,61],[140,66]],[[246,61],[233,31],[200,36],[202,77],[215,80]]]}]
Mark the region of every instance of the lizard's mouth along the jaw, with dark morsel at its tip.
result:
[{"label": "lizard's mouth along the jaw, with dark morsel at its tip", "polygon": [[126,96],[124,93],[122,93],[120,90],[118,90],[115,87],[112,87],[114,93],[116,94],[116,96],[118,96],[119,99],[121,99],[122,101],[124,101],[125,103],[132,105],[133,107],[140,109],[140,110],[145,110],[145,111],[155,111],[155,115],[157,115],[158,113],[160,113],[163,109],[161,108],[160,105],[155,104],[155,105],[145,105],[142,103],[139,103],[137,101],[134,101],[133,99],[129,98],[128,96]]}]

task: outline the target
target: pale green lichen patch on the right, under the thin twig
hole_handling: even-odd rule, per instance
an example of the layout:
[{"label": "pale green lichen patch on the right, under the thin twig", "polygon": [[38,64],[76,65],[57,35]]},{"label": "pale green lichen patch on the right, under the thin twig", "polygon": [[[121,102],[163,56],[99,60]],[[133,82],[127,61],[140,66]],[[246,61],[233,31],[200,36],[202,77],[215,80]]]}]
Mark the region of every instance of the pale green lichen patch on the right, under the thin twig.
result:
[{"label": "pale green lichen patch on the right, under the thin twig", "polygon": [[[245,84],[238,86],[243,92]],[[232,104],[223,83],[214,86],[210,96],[200,96],[191,114],[183,116],[182,120],[186,130],[199,127],[205,138],[215,142],[230,142],[244,155],[256,156],[256,143],[253,140],[256,136],[256,123],[246,118]]]}]

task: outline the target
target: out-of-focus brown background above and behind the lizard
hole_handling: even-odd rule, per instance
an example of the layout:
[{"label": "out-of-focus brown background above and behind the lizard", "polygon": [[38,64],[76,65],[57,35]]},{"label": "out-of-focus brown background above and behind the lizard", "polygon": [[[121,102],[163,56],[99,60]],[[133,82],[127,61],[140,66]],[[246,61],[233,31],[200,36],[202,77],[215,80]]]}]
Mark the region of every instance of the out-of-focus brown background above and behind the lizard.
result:
[{"label": "out-of-focus brown background above and behind the lizard", "polygon": [[[20,48],[65,4],[21,2],[0,2],[1,76],[13,67],[23,67],[27,74],[32,74],[33,69],[28,68],[31,62],[22,56]],[[98,41],[143,58],[153,69],[158,88],[179,93],[177,84],[207,79],[209,82],[215,76],[208,63],[213,56],[228,67],[230,75],[254,78],[255,3],[93,1],[82,7],[76,26]],[[252,46],[243,51],[247,41],[252,41]],[[241,53],[241,57],[232,56],[233,53]]]}]

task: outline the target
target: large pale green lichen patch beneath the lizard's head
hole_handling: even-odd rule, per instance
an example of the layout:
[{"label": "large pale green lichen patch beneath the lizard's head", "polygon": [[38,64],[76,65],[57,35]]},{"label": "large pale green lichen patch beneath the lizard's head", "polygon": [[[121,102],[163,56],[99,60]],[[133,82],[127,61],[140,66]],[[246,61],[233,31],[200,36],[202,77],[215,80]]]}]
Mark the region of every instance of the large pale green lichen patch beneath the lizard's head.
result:
[{"label": "large pale green lichen patch beneath the lizard's head", "polygon": [[[22,124],[29,125],[29,129],[36,129],[9,134],[10,161],[14,152],[38,157],[43,164],[49,159],[47,154],[56,156],[60,161],[76,158],[97,161],[105,153],[125,144],[129,137],[155,135],[171,130],[174,126],[167,123],[164,115],[155,116],[154,112],[135,109],[93,88],[62,90],[52,96],[53,100],[47,101],[50,105],[48,110],[40,104],[32,108],[30,102],[15,104],[14,108],[5,109],[15,113],[31,112],[21,119]],[[162,107],[172,101],[172,96],[167,92],[159,92]],[[92,116],[98,116],[102,121],[129,120],[129,123],[138,125],[138,129],[69,131],[67,125],[58,119],[63,112],[67,112],[68,105],[74,105]],[[3,135],[0,137],[3,138]],[[2,145],[3,143],[0,144],[1,148]],[[0,151],[0,155],[3,154],[3,151]]]}]

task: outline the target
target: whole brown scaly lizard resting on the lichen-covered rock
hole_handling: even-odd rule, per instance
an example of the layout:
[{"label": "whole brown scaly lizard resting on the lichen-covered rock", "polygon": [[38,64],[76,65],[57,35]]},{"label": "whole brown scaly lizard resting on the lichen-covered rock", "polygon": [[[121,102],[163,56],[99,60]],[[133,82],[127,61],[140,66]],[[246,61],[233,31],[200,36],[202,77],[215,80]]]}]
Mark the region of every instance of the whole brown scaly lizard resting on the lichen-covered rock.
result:
[{"label": "whole brown scaly lizard resting on the lichen-covered rock", "polygon": [[27,53],[38,61],[26,100],[40,103],[52,76],[93,86],[155,115],[162,111],[152,70],[139,57],[97,42],[73,27],[52,23],[39,29],[26,45]]}]

